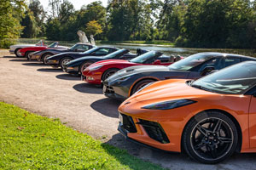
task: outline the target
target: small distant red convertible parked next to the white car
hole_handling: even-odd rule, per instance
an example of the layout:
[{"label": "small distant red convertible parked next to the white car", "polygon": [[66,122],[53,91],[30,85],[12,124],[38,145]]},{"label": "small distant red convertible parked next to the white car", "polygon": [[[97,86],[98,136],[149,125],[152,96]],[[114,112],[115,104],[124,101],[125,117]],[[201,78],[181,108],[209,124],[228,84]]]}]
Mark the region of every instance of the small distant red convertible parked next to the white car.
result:
[{"label": "small distant red convertible parked next to the white car", "polygon": [[58,44],[59,44],[59,42],[53,42],[53,43],[49,44],[49,46],[35,46],[35,47],[21,48],[20,55],[22,57],[26,57],[28,59],[28,55],[32,54],[35,51],[42,51],[42,50],[48,49],[48,48],[62,48],[62,49],[68,48],[65,46],[59,46]]}]

